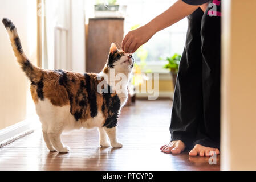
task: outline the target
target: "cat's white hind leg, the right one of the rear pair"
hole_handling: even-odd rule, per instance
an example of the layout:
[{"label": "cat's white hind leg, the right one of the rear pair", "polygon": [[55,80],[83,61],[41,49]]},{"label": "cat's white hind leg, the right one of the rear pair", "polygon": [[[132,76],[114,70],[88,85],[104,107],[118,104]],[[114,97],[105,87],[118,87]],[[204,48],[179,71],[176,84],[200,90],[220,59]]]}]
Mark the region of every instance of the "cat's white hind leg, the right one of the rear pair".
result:
[{"label": "cat's white hind leg, the right one of the rear pair", "polygon": [[62,140],[60,139],[60,135],[62,134],[63,127],[53,127],[51,126],[48,129],[48,136],[51,140],[52,145],[54,148],[60,153],[68,153],[70,152],[70,147],[64,146]]}]

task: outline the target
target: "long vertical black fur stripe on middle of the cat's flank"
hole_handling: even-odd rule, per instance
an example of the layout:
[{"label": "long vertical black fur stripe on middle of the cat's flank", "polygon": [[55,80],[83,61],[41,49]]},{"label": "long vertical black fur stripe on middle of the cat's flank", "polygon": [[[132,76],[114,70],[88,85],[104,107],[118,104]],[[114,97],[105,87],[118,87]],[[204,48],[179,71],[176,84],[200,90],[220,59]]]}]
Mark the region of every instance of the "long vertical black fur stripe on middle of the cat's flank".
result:
[{"label": "long vertical black fur stripe on middle of the cat's flank", "polygon": [[[84,74],[84,77],[86,79],[86,90],[88,93],[88,103],[90,104],[90,111],[91,111],[91,117],[94,118],[97,115],[97,98],[95,92],[95,86],[94,84],[91,85],[91,77],[87,73]],[[94,82],[93,82],[94,83]]]}]

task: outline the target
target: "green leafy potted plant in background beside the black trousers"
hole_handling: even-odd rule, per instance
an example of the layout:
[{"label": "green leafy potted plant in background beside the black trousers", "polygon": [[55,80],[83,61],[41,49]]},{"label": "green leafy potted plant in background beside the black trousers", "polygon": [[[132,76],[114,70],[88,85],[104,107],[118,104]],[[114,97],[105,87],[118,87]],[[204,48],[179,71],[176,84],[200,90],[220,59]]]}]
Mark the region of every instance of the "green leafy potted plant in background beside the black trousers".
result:
[{"label": "green leafy potted plant in background beside the black trousers", "polygon": [[[164,65],[164,68],[170,70],[170,73],[172,74],[172,78],[173,78],[174,87],[176,85],[176,78],[178,73],[178,65],[180,65],[180,59],[181,59],[181,55],[177,53],[174,53],[172,57],[166,57],[166,59],[164,59],[168,61],[168,63]],[[160,60],[162,59],[160,58]]]}]

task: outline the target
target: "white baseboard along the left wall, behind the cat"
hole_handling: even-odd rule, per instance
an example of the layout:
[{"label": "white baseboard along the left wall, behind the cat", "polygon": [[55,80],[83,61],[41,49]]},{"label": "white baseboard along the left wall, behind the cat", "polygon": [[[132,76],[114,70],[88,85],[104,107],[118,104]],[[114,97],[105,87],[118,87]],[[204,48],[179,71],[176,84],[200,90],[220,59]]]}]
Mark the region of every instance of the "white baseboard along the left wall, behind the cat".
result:
[{"label": "white baseboard along the left wall, behind the cat", "polygon": [[38,117],[30,118],[0,130],[0,148],[32,133],[39,127],[38,122]]}]

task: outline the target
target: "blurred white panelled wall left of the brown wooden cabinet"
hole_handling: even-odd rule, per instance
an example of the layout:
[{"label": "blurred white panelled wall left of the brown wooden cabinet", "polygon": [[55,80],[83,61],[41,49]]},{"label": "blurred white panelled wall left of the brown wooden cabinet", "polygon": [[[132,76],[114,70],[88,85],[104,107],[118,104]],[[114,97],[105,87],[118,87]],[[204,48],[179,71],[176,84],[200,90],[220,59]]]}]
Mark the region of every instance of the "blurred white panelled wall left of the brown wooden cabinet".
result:
[{"label": "blurred white panelled wall left of the brown wooden cabinet", "polygon": [[45,0],[43,68],[85,70],[84,0]]}]

